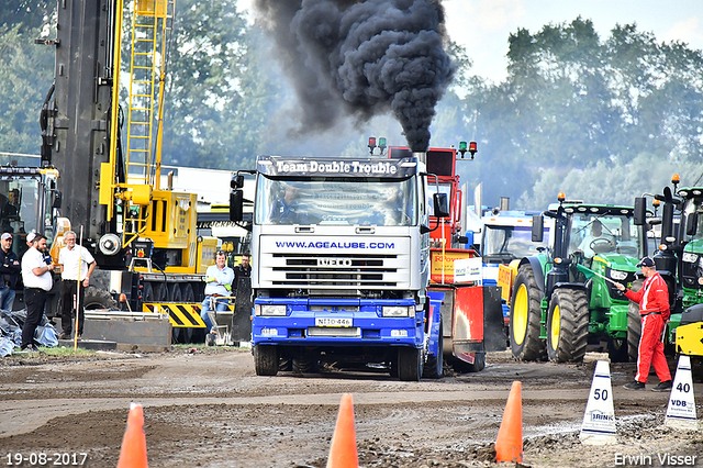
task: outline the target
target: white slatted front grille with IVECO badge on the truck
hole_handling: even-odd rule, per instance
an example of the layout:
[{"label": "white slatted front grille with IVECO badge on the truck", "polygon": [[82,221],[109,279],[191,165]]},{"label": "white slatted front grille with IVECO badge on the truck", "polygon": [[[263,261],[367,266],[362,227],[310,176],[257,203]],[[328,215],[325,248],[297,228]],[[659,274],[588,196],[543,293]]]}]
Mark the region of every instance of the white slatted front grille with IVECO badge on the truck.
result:
[{"label": "white slatted front grille with IVECO badge on the truck", "polygon": [[[260,283],[303,289],[408,287],[409,261],[401,255],[274,254],[261,265]],[[269,261],[266,261],[269,264]],[[405,269],[402,269],[405,266]]]}]

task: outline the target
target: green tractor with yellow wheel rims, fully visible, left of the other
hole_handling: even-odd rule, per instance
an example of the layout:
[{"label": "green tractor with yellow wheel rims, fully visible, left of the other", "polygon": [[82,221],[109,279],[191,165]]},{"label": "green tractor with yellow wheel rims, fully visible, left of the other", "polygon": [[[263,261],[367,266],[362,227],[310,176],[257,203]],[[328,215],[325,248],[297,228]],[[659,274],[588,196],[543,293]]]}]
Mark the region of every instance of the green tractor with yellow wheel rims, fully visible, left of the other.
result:
[{"label": "green tractor with yellow wheel rims, fully visible, left of the other", "polygon": [[[512,287],[510,346],[520,360],[573,363],[606,342],[611,360],[636,358],[639,313],[614,286],[632,287],[646,255],[646,231],[632,207],[565,202],[537,215],[554,219],[549,247],[520,260]],[[632,339],[628,339],[632,336]]]}]

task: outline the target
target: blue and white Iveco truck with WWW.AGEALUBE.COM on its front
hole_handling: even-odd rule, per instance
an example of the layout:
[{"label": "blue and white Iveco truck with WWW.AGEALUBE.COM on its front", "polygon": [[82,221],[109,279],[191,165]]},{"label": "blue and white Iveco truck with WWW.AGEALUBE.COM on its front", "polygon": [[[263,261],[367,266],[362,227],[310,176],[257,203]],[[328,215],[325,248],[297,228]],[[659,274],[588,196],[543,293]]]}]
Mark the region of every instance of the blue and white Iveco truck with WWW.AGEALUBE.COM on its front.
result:
[{"label": "blue and white Iveco truck with WWW.AGEALUBE.COM on its front", "polygon": [[231,218],[242,221],[243,174],[256,176],[247,227],[257,375],[327,361],[386,367],[401,380],[442,376],[429,232],[431,215],[449,213],[424,159],[259,156],[256,170],[233,177]]}]

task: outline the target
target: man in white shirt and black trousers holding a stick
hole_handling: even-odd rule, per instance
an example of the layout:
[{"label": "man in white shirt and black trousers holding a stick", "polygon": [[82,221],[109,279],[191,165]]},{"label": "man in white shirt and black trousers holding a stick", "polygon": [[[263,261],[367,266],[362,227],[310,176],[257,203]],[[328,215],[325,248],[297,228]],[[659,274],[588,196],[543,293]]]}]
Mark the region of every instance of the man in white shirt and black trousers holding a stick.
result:
[{"label": "man in white shirt and black trousers holding a stick", "polygon": [[[83,299],[86,288],[90,285],[90,275],[96,269],[96,259],[83,246],[76,245],[76,233],[67,231],[64,234],[66,247],[58,252],[58,265],[62,266],[62,334],[59,338],[70,339],[72,333],[72,321],[76,316],[76,294],[80,301],[78,309],[78,336],[83,334],[83,323],[86,322]],[[79,268],[80,267],[80,268]],[[80,274],[80,282],[78,275]],[[80,288],[78,285],[80,283]]]}]

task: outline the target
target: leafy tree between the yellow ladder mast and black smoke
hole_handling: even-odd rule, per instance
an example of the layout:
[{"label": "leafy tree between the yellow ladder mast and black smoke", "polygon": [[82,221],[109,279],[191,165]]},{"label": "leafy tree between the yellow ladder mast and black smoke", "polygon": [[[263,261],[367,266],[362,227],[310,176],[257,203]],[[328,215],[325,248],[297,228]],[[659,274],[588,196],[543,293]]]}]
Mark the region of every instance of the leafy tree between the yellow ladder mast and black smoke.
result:
[{"label": "leafy tree between the yellow ladder mast and black smoke", "polygon": [[177,3],[165,103],[165,164],[235,168],[253,158],[271,89],[260,73],[257,33],[219,0]]}]

